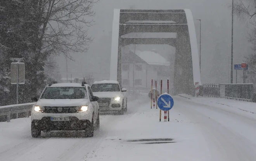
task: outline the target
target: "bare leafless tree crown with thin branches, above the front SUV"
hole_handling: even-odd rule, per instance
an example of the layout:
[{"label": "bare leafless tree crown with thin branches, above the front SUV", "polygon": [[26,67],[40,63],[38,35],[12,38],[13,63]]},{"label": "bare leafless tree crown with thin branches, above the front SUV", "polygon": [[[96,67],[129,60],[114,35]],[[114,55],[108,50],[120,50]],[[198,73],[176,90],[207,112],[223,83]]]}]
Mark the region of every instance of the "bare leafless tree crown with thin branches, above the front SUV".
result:
[{"label": "bare leafless tree crown with thin branches, above the front SUV", "polygon": [[31,0],[31,10],[37,15],[38,39],[41,53],[64,54],[86,52],[92,38],[88,27],[98,0]]}]

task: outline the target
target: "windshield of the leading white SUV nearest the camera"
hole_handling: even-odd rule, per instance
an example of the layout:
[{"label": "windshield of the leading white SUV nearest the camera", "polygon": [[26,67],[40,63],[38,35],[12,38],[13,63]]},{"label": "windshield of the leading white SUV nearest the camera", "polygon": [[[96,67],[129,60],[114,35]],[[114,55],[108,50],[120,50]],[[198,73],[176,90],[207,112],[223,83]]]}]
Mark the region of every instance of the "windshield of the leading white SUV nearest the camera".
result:
[{"label": "windshield of the leading white SUV nearest the camera", "polygon": [[41,99],[83,99],[87,98],[84,87],[47,87]]}]

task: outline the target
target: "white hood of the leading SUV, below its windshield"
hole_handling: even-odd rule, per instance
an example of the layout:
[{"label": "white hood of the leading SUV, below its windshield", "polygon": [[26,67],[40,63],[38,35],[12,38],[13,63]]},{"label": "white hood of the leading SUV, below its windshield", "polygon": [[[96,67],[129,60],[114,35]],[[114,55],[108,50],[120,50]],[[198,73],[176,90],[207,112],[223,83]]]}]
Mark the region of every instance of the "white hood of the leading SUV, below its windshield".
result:
[{"label": "white hood of the leading SUV, below its windshield", "polygon": [[88,99],[40,99],[36,102],[39,106],[66,107],[86,105]]}]

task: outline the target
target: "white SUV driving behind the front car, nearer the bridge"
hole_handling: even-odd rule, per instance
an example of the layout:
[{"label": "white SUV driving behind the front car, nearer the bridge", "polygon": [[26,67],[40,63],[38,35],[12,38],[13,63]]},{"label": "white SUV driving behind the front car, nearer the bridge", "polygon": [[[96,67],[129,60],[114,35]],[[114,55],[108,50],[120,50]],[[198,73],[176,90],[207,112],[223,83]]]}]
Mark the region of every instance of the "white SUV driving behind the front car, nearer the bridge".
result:
[{"label": "white SUV driving behind the front car, nearer the bridge", "polygon": [[92,85],[92,92],[99,97],[100,112],[118,112],[123,115],[127,111],[126,89],[118,81],[96,81]]}]

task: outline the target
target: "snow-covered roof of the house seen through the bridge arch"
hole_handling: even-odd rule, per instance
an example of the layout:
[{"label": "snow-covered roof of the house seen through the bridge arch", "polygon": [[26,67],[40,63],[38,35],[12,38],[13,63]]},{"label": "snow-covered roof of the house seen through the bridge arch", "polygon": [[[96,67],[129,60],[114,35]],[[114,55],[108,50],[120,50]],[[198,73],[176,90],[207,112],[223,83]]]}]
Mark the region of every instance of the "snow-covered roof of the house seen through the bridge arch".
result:
[{"label": "snow-covered roof of the house seen through the bridge arch", "polygon": [[167,61],[163,56],[153,51],[136,51],[136,55],[150,65],[170,66],[170,61]]}]

